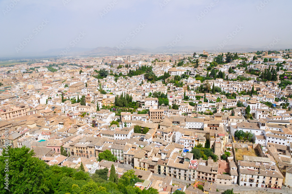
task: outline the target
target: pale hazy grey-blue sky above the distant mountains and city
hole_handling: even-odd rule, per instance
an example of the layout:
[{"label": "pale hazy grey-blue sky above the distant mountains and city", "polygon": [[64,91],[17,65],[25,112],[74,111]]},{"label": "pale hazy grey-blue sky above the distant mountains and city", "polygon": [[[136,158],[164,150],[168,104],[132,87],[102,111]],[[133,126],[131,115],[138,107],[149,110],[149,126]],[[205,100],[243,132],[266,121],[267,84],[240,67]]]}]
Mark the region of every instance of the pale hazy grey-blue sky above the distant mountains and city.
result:
[{"label": "pale hazy grey-blue sky above the distant mountains and city", "polygon": [[278,37],[277,44],[291,45],[291,7],[291,0],[0,0],[0,56],[121,41],[215,48],[224,41],[265,46]]}]

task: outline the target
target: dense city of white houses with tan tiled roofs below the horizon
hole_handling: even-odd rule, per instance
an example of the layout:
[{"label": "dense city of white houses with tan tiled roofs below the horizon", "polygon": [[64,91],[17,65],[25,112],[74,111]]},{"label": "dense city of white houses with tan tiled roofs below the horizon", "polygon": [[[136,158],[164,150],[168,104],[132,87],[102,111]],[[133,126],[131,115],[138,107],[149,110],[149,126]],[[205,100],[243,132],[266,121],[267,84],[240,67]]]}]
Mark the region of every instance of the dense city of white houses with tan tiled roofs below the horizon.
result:
[{"label": "dense city of white houses with tan tiled roofs below the horizon", "polygon": [[[11,173],[32,193],[220,193],[226,185],[289,192],[291,55],[10,61],[0,73],[1,157],[10,156],[9,172],[18,162],[40,171]],[[114,183],[116,191],[107,188]]]}]

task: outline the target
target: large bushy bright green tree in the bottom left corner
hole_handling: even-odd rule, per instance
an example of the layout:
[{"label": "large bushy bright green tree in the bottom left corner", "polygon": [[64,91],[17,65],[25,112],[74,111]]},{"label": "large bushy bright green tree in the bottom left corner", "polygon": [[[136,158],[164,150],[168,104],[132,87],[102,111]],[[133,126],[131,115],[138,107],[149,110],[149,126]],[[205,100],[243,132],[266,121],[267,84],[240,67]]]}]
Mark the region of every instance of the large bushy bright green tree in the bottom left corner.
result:
[{"label": "large bushy bright green tree in the bottom left corner", "polygon": [[[8,153],[0,156],[0,190],[1,193],[38,194],[49,189],[44,183],[46,164],[39,158],[33,157],[34,151],[27,147],[10,148]],[[5,157],[9,156],[9,157]],[[5,172],[5,162],[8,159],[9,172]],[[9,185],[5,188],[5,177],[8,174]]]}]

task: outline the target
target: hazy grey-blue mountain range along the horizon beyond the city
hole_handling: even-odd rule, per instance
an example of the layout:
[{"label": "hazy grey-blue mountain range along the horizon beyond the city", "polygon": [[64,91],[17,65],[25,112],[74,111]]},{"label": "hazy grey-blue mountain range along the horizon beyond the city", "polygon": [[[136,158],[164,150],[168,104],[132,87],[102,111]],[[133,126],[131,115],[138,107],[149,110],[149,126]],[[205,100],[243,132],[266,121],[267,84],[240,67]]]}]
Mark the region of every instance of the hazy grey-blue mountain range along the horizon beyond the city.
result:
[{"label": "hazy grey-blue mountain range along the horizon beyond the city", "polygon": [[279,49],[292,48],[292,45],[276,44],[273,48],[267,48],[267,46],[250,46],[250,45],[217,45],[217,46],[160,46],[157,48],[141,48],[141,47],[125,47],[119,49],[117,47],[97,47],[97,48],[70,48],[70,51],[66,51],[66,48],[49,49],[45,52],[38,53],[20,53],[18,56],[1,56],[7,58],[48,58],[48,57],[63,57],[63,56],[119,56],[119,55],[133,55],[133,54],[150,54],[150,53],[202,53],[203,50],[209,53],[216,52],[253,52],[261,50],[279,50]]}]

